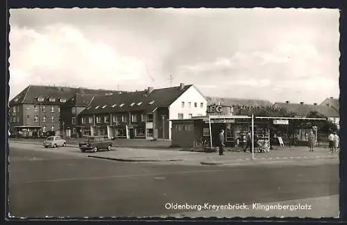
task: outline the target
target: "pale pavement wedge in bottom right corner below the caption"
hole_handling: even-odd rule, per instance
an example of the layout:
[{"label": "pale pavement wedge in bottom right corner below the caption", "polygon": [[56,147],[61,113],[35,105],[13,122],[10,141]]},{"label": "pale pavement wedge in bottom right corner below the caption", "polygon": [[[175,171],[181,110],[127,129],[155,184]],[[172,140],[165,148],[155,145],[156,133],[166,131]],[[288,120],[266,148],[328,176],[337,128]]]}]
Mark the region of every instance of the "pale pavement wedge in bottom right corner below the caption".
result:
[{"label": "pale pavement wedge in bottom right corner below the caption", "polygon": [[[185,203],[179,203],[184,205]],[[190,203],[188,203],[191,205]],[[230,203],[231,205],[231,203]],[[243,205],[243,203],[239,203]],[[201,206],[205,206],[202,203]],[[228,206],[228,205],[227,205]],[[274,208],[277,206],[277,208]],[[278,209],[278,206],[289,206],[289,209]],[[164,206],[163,206],[164,207]],[[267,209],[266,209],[267,207]],[[272,207],[272,209],[270,208]],[[290,210],[291,207],[291,210]],[[294,210],[294,207],[301,208]],[[339,217],[339,195],[328,197],[316,197],[310,199],[296,199],[289,201],[276,201],[271,203],[253,202],[246,204],[244,209],[234,208],[227,210],[187,210],[185,213],[169,213],[174,210],[168,210],[167,215],[159,217],[176,217],[176,218],[197,218],[197,217],[217,217],[217,218],[232,218],[232,217],[301,217],[301,218],[321,218],[321,217]]]}]

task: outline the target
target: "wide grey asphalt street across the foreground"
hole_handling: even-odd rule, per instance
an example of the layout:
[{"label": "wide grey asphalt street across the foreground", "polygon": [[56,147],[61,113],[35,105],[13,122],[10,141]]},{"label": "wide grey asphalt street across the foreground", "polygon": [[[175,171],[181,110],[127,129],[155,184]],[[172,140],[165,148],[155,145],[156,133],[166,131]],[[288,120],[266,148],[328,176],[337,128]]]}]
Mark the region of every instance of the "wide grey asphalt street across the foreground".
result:
[{"label": "wide grey asphalt street across the foreground", "polygon": [[10,148],[15,217],[150,217],[165,203],[268,203],[339,194],[339,165],[203,167],[124,163]]}]

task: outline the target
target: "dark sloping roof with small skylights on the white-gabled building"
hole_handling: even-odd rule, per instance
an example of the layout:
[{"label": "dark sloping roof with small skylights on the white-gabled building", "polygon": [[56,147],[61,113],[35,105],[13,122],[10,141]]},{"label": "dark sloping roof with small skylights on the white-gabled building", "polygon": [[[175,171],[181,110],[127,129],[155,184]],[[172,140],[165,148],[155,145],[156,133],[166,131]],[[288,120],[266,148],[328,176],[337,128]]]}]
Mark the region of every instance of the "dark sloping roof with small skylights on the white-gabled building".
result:
[{"label": "dark sloping roof with small skylights on the white-gabled building", "polygon": [[[129,111],[153,111],[155,108],[169,107],[171,103],[176,101],[181,94],[188,90],[192,85],[185,85],[183,89],[180,87],[154,89],[146,95],[147,91],[123,92],[112,96],[95,96],[90,106],[87,107],[83,114],[93,113],[121,113]],[[141,103],[140,103],[141,102]],[[151,104],[151,102],[153,102]],[[121,106],[121,104],[124,106]],[[133,106],[130,106],[134,103]],[[139,104],[140,103],[140,104]],[[105,106],[105,108],[102,108]],[[112,107],[116,105],[115,107]],[[96,107],[99,108],[96,109]]]}]

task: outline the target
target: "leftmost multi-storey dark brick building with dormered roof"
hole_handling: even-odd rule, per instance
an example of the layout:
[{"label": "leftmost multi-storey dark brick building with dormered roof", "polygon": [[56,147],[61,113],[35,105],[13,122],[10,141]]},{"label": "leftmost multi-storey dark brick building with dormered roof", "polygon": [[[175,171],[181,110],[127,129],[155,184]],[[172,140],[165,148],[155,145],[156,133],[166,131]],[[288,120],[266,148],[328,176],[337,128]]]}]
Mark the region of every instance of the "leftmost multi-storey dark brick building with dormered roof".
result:
[{"label": "leftmost multi-storey dark brick building with dormered roof", "polygon": [[[61,109],[68,108],[64,105],[69,99],[71,101],[74,98],[74,94],[94,95],[108,92],[112,91],[28,85],[9,102],[8,122],[10,123],[10,131],[11,133],[24,133],[28,136],[35,135],[35,133],[38,135],[46,131],[56,131],[60,134],[62,133],[62,126],[60,125]],[[73,109],[71,108],[71,110]],[[78,110],[81,110],[81,108]]]}]

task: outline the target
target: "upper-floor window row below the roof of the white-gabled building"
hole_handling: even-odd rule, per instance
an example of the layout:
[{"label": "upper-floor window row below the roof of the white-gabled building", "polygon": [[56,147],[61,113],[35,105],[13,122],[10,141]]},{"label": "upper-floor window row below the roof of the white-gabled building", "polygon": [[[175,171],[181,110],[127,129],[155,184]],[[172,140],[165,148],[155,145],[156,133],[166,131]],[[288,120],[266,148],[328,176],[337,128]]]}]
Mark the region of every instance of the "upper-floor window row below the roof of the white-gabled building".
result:
[{"label": "upper-floor window row below the roof of the white-gabled building", "polygon": [[[74,124],[75,118],[72,117],[72,123]],[[92,124],[93,121],[93,117],[81,117],[81,123],[85,124],[88,121],[89,124]],[[101,122],[104,123],[109,123],[110,122],[110,117],[109,116],[97,116],[96,117],[96,123],[100,124]],[[117,122],[128,122],[128,116],[127,115],[121,115],[121,116],[113,116],[112,117],[112,122],[117,123]],[[153,122],[153,114],[149,114],[146,115],[142,114],[142,115],[131,115],[131,122]]]}]

